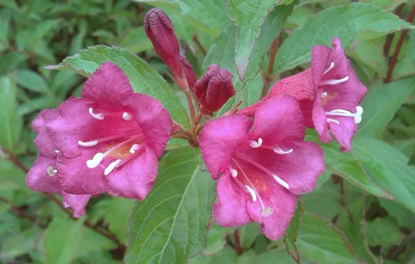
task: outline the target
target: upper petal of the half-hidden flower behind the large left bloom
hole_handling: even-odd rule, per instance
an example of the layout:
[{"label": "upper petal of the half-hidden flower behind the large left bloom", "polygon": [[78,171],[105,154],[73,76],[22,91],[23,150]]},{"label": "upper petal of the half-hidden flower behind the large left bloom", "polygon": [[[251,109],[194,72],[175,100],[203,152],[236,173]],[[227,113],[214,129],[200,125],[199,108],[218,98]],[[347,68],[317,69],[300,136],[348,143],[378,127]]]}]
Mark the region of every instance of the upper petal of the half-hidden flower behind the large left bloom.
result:
[{"label": "upper petal of the half-hidden flower behind the large left bloom", "polygon": [[33,130],[38,134],[34,140],[36,147],[38,147],[40,153],[56,158],[55,150],[58,149],[52,139],[47,134],[46,124],[52,121],[59,115],[57,109],[45,109],[39,113],[38,117],[33,120]]}]

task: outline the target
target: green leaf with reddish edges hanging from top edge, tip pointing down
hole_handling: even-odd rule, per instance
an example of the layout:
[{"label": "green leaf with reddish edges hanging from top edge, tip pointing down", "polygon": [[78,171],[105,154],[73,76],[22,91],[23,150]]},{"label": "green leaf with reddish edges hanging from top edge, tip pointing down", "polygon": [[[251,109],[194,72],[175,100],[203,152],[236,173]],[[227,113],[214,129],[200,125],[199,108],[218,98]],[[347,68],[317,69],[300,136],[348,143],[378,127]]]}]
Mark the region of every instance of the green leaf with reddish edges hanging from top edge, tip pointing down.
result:
[{"label": "green leaf with reddish edges hanging from top edge, tip pointing down", "polygon": [[243,80],[256,40],[260,35],[261,26],[277,2],[273,0],[226,0],[225,3],[228,7],[229,18],[236,26],[235,64],[238,75]]}]

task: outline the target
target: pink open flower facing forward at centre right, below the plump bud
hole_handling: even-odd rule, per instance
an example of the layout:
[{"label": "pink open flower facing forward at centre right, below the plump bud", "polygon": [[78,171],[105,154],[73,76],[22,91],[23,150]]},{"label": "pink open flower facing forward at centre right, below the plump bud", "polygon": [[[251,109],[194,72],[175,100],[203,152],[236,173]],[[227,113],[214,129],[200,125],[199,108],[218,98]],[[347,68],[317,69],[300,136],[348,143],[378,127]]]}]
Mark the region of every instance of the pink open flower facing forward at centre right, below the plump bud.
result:
[{"label": "pink open flower facing forward at centre right, below the plump bud", "polygon": [[295,213],[297,195],[310,192],[324,172],[322,149],[304,142],[304,122],[294,97],[265,101],[254,121],[230,115],[205,125],[199,135],[203,160],[218,179],[213,213],[221,226],[255,221],[278,240]]}]

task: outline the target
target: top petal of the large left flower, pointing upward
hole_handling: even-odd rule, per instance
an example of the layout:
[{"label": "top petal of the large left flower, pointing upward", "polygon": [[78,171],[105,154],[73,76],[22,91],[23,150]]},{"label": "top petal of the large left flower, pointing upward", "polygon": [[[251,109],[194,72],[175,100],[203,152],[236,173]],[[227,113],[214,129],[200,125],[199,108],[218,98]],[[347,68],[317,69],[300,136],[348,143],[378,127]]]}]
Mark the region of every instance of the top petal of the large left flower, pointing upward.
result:
[{"label": "top petal of the large left flower, pointing upward", "polygon": [[122,69],[110,62],[104,62],[84,85],[82,97],[95,101],[107,111],[123,111],[123,102],[132,96],[130,80]]}]

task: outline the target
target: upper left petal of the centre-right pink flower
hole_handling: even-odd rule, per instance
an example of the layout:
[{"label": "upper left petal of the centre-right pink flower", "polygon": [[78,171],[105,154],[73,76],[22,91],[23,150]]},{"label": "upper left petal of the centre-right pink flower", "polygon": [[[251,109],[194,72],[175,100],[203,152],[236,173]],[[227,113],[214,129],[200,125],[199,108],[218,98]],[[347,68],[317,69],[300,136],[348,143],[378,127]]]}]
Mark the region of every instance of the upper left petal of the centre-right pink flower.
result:
[{"label": "upper left petal of the centre-right pink flower", "polygon": [[198,136],[201,154],[212,179],[229,171],[230,158],[248,140],[252,122],[246,115],[230,115],[206,124]]}]

